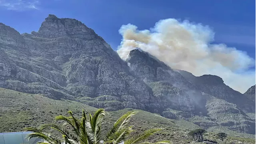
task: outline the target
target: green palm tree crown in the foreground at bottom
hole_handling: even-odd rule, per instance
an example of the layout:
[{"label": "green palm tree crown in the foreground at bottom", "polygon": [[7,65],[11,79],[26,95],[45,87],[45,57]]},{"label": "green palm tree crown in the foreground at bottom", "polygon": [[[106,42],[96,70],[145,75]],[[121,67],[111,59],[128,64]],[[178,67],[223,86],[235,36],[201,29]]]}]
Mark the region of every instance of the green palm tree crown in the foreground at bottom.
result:
[{"label": "green palm tree crown in the foreground at bottom", "polygon": [[[128,122],[132,116],[137,112],[130,111],[121,116],[112,126],[110,131],[106,134],[103,140],[100,138],[101,124],[105,116],[104,109],[98,109],[93,116],[89,114],[87,119],[86,113],[82,111],[82,118],[78,119],[73,116],[71,111],[68,111],[70,116],[56,116],[56,121],[64,121],[63,125],[47,124],[42,125],[40,128],[26,128],[26,131],[33,132],[28,135],[28,138],[42,138],[45,142],[38,144],[152,144],[150,142],[142,142],[152,134],[160,131],[161,129],[155,128],[146,130],[136,136],[131,136],[132,126],[128,126]],[[62,134],[62,138],[53,136],[47,129],[57,130]],[[160,141],[154,144],[170,144],[169,141]]]}]

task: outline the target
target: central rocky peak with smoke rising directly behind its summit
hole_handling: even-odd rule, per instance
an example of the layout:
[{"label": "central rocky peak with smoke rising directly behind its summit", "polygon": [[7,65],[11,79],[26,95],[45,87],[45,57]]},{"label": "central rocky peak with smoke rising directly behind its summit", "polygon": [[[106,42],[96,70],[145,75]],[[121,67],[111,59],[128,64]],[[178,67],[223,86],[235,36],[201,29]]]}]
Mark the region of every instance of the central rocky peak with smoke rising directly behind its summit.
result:
[{"label": "central rocky peak with smoke rising directly behind its summit", "polygon": [[152,88],[150,108],[158,109],[156,112],[166,114],[171,108],[191,114],[205,113],[204,105],[198,105],[203,102],[201,93],[196,94],[195,86],[180,73],[139,49],[132,50],[126,61],[132,73]]}]

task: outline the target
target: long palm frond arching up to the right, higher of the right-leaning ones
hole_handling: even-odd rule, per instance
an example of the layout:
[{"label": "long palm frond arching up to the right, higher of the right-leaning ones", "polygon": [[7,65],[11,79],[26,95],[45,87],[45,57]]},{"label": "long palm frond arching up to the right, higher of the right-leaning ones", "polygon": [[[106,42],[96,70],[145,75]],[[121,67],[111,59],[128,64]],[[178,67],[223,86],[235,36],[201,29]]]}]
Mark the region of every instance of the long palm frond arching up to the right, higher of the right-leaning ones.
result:
[{"label": "long palm frond arching up to the right, higher of the right-leaning ones", "polygon": [[130,111],[127,112],[126,114],[122,115],[113,125],[113,127],[111,128],[111,130],[108,132],[108,134],[106,135],[104,141],[109,141],[111,140],[110,138],[112,137],[112,135],[114,133],[116,133],[117,131],[125,128],[125,126],[128,124],[130,118],[132,116],[134,116],[135,114],[137,114],[137,111]]}]

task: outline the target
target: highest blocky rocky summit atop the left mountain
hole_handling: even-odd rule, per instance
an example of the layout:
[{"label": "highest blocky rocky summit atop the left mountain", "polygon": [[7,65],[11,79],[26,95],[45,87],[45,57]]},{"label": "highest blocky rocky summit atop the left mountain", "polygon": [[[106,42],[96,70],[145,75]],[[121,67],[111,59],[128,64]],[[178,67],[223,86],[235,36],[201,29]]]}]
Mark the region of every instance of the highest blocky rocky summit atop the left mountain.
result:
[{"label": "highest blocky rocky summit atop the left mountain", "polygon": [[53,14],[42,23],[38,36],[44,38],[58,38],[68,36],[71,38],[82,38],[92,40],[100,38],[94,30],[88,28],[82,22],[71,18],[58,18]]}]

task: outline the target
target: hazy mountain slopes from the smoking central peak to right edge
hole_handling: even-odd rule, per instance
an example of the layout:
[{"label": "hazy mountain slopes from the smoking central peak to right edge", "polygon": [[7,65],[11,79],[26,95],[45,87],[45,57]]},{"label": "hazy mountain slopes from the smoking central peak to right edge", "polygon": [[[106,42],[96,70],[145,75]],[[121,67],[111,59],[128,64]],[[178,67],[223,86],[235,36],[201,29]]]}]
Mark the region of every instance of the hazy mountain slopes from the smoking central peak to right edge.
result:
[{"label": "hazy mountain slopes from the smoking central peak to right edge", "polygon": [[[190,83],[186,79],[187,77],[184,78],[176,70],[172,70],[163,62],[139,49],[130,52],[127,62],[132,72],[152,88],[154,100],[157,101],[156,103],[152,102],[150,108],[164,108],[163,116],[167,118],[183,117],[205,129],[224,126],[238,132],[252,134],[256,132],[256,122],[252,118],[236,104],[227,102],[225,98],[219,99],[222,98],[220,97],[222,95],[219,96],[218,92],[214,93],[213,90],[210,90],[212,86],[224,87],[223,91],[226,92],[227,98],[240,96],[232,95],[236,92],[231,91],[232,89],[225,89],[228,86],[223,83],[221,78],[210,75],[197,78],[191,74],[195,80],[190,80],[193,82]],[[230,91],[231,93],[229,93]],[[216,97],[210,94],[214,94]],[[161,104],[161,106],[157,104]],[[157,112],[161,113],[159,109]]]}]

